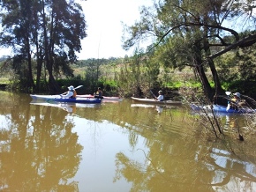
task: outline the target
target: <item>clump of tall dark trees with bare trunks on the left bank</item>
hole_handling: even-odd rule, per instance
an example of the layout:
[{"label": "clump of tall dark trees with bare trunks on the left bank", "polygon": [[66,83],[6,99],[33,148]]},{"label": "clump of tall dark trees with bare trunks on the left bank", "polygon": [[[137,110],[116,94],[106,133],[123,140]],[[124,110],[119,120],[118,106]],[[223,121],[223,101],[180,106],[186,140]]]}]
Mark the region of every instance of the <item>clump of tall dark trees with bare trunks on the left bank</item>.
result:
[{"label": "clump of tall dark trees with bare trunks on the left bank", "polygon": [[0,0],[0,6],[3,26],[0,44],[13,48],[17,55],[24,55],[29,69],[28,86],[34,86],[34,56],[37,89],[44,63],[48,71],[49,90],[58,91],[54,70],[71,75],[69,64],[76,61],[75,52],[81,49],[80,40],[87,36],[81,6],[73,0]]}]

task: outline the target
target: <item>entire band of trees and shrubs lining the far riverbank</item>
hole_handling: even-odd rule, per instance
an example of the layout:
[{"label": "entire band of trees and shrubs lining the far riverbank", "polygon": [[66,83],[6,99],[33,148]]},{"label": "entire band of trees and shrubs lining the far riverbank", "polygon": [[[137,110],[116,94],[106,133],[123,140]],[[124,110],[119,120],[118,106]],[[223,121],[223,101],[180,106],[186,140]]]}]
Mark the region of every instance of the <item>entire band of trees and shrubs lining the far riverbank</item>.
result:
[{"label": "entire band of trees and shrubs lining the far riverbank", "polygon": [[[123,47],[153,35],[147,49],[131,57],[83,61],[75,55],[87,36],[79,4],[6,2],[0,4],[0,44],[13,47],[16,55],[2,63],[1,71],[26,92],[58,92],[72,82],[90,90],[109,87],[124,96],[191,85],[200,85],[209,100],[226,90],[255,96],[255,6],[236,2],[156,1],[141,7],[134,25],[124,26]],[[61,10],[59,4],[64,4]]]}]

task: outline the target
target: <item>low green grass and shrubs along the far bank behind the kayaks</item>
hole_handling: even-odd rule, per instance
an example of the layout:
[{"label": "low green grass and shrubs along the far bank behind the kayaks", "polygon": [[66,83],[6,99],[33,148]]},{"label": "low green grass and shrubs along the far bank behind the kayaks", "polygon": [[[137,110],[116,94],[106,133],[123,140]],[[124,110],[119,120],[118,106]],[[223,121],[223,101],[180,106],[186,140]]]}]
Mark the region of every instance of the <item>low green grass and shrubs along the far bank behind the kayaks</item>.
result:
[{"label": "low green grass and shrubs along the far bank behind the kayaks", "polygon": [[[1,60],[1,65],[5,62]],[[207,72],[207,78],[212,79],[211,73]],[[56,83],[60,90],[49,92],[48,77],[45,74],[41,79],[41,89],[34,91],[26,89],[20,85],[20,80],[11,78],[11,73],[3,73],[0,78],[0,89],[11,92],[28,93],[47,93],[58,94],[65,92],[70,85],[83,85],[77,91],[79,94],[94,94],[97,87],[102,87],[105,96],[120,96],[123,98],[139,97],[152,98],[152,92],[157,94],[159,90],[164,92],[166,100],[182,100],[182,97],[189,94],[195,94],[203,97],[204,92],[200,83],[200,78],[194,73],[192,68],[186,67],[181,70],[166,69],[163,66],[157,66],[157,69],[148,70],[147,60],[140,59],[139,64],[134,62],[134,58],[109,58],[109,59],[88,59],[72,63],[72,76],[66,77],[62,73],[56,74]],[[149,75],[148,75],[149,74]],[[222,73],[220,73],[222,74]],[[4,76],[3,76],[4,75]],[[222,77],[222,76],[221,76]],[[223,81],[222,88],[231,92],[241,92],[248,97],[256,98],[253,92],[253,81],[236,80],[234,82]],[[210,81],[214,89],[213,80]],[[247,86],[244,86],[244,85]],[[184,92],[187,88],[192,91]],[[182,95],[181,92],[183,92]],[[193,93],[191,93],[193,92]]]}]

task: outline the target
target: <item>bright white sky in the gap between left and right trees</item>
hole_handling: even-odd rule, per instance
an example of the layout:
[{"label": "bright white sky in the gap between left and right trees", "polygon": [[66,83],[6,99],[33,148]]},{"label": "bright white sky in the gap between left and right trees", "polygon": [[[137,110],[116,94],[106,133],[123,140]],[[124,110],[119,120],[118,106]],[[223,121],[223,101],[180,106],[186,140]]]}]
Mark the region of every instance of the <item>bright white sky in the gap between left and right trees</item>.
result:
[{"label": "bright white sky in the gap between left and right trees", "polygon": [[[152,0],[76,0],[82,5],[87,22],[87,37],[81,41],[79,60],[88,58],[124,57],[132,55],[134,48],[121,47],[123,26],[132,26],[139,20],[139,7],[152,4]],[[0,48],[0,55],[10,55],[11,49]]]}]

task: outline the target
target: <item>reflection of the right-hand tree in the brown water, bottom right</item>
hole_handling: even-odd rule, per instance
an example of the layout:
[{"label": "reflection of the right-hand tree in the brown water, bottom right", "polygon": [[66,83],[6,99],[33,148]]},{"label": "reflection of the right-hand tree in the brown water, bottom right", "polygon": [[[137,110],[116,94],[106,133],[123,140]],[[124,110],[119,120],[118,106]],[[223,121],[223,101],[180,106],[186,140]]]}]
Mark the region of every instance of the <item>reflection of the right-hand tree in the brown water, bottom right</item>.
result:
[{"label": "reflection of the right-hand tree in the brown water, bottom right", "polygon": [[[171,141],[169,141],[171,142]],[[176,143],[176,142],[173,142]],[[222,144],[205,147],[194,144],[180,151],[177,144],[153,142],[144,159],[117,153],[115,180],[132,182],[131,191],[254,191],[256,166],[222,150]],[[207,155],[207,151],[210,153]]]}]

